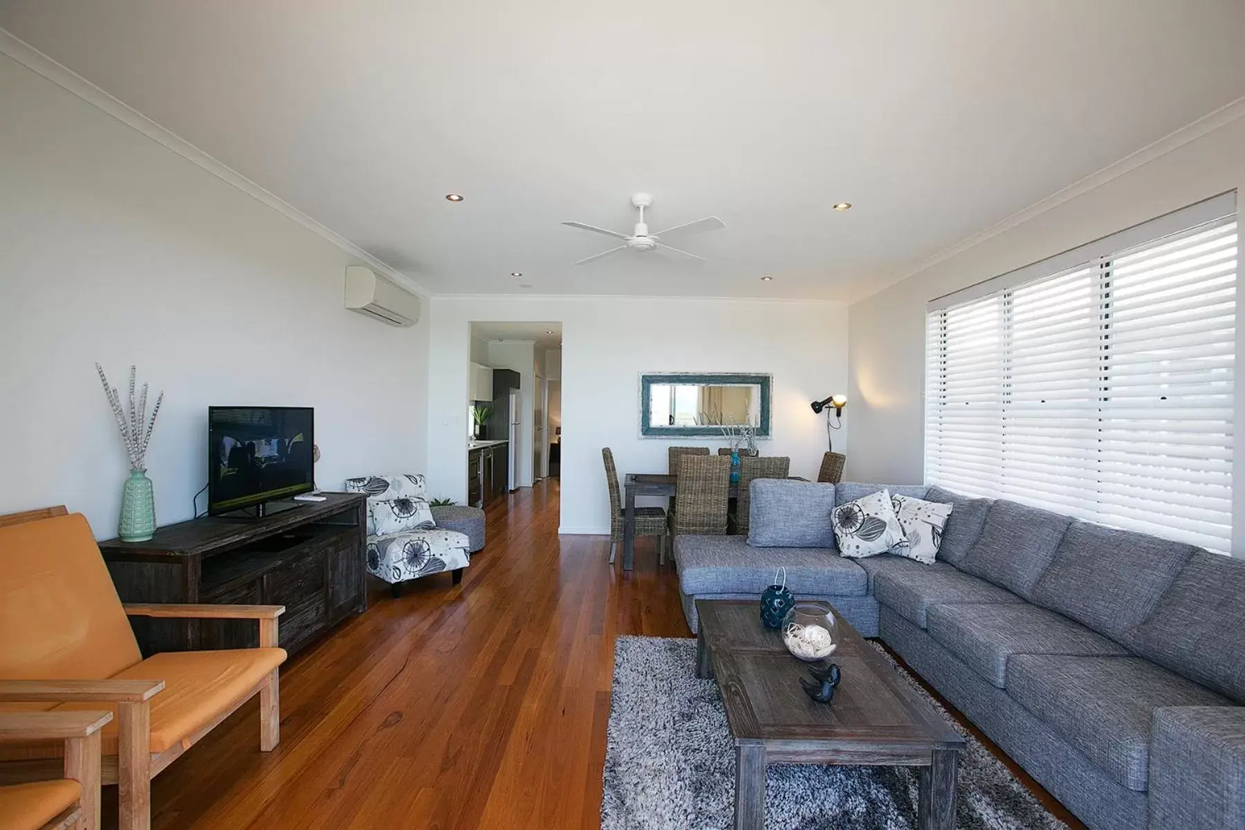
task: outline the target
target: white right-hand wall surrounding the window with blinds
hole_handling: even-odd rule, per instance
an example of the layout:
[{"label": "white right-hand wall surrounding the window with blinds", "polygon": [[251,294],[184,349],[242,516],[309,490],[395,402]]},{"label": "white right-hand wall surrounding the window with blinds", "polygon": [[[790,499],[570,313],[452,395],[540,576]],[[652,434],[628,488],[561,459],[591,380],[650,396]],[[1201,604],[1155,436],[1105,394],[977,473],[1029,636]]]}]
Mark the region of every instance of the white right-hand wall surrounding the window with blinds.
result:
[{"label": "white right-hand wall surrounding the window with blinds", "polygon": [[[929,300],[1234,188],[1245,189],[1245,118],[853,304],[848,474],[870,482],[921,480]],[[1238,488],[1243,495],[1245,488]]]}]

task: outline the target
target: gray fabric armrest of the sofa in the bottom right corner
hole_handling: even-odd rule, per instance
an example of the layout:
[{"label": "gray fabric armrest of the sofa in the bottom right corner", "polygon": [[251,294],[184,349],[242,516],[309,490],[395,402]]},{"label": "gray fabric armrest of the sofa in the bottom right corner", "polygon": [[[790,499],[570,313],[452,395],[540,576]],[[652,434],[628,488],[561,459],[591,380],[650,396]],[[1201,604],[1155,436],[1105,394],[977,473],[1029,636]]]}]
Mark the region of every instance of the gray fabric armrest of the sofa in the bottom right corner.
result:
[{"label": "gray fabric armrest of the sofa in the bottom right corner", "polygon": [[1245,828],[1245,708],[1154,713],[1149,830]]}]

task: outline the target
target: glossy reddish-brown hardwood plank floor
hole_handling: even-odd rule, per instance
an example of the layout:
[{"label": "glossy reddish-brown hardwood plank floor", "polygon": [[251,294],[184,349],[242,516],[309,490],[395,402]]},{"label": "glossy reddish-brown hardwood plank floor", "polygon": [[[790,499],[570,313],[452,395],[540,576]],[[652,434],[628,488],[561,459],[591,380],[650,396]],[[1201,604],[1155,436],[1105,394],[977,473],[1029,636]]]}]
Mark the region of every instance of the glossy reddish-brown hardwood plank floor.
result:
[{"label": "glossy reddish-brown hardwood plank floor", "polygon": [[691,632],[654,539],[624,576],[605,538],[559,539],[558,495],[496,503],[459,586],[376,582],[283,667],[280,745],[243,707],[152,783],[153,826],[598,828],[614,638]]}]

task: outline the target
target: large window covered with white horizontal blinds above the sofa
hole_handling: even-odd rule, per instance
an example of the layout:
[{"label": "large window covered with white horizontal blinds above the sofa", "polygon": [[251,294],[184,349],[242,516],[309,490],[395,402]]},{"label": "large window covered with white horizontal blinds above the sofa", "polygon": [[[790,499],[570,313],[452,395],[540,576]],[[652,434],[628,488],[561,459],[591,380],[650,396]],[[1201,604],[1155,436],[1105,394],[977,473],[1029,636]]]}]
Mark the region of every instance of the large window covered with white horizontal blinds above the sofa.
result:
[{"label": "large window covered with white horizontal blinds above the sofa", "polygon": [[1228,551],[1229,194],[930,304],[925,478]]}]

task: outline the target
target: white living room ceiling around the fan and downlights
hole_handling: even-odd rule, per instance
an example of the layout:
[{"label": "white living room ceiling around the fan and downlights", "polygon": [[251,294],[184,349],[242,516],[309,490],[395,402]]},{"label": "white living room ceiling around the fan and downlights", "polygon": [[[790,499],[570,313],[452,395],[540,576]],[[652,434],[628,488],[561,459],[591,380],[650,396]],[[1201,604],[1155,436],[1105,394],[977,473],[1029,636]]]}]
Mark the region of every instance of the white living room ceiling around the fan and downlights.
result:
[{"label": "white living room ceiling around the fan and downlights", "polygon": [[[1245,95],[1240,0],[0,0],[0,27],[435,294],[859,296]],[[654,230],[726,221],[681,245],[707,265],[570,266],[610,240],[559,223],[629,230],[636,190]]]}]

